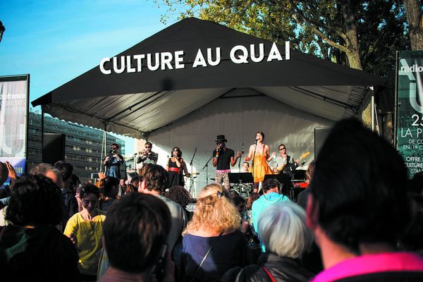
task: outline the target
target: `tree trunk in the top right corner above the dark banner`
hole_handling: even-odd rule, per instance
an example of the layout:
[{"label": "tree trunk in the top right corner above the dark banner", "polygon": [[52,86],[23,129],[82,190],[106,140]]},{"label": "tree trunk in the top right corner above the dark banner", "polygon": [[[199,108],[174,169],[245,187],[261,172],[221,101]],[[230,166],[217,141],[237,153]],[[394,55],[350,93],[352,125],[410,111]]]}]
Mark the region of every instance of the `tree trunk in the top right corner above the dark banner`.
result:
[{"label": "tree trunk in the top right corner above the dark banner", "polygon": [[419,0],[404,0],[412,50],[423,50],[423,15]]}]

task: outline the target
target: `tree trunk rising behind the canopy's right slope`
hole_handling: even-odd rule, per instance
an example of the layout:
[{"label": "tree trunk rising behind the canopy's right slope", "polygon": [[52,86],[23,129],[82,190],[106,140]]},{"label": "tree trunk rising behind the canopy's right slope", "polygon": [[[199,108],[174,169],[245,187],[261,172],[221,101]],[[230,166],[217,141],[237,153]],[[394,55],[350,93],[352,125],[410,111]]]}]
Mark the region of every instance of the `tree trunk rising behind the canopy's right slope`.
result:
[{"label": "tree trunk rising behind the canopy's right slope", "polygon": [[357,26],[355,25],[353,9],[351,8],[350,1],[341,2],[343,3],[341,9],[343,13],[345,35],[347,35],[345,47],[348,48],[348,51],[345,53],[348,58],[348,66],[350,66],[350,68],[362,70],[363,68],[359,53],[360,46],[358,44]]}]

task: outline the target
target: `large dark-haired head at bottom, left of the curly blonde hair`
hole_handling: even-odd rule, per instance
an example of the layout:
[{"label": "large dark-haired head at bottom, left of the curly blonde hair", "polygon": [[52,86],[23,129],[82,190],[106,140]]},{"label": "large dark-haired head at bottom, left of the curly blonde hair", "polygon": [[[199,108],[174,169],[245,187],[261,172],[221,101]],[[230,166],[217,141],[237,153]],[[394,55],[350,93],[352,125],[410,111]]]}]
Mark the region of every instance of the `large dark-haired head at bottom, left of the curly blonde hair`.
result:
[{"label": "large dark-haired head at bottom, left of the curly blonde hair", "polygon": [[111,266],[132,274],[146,271],[157,263],[170,230],[170,212],[158,197],[123,196],[104,221],[104,246]]}]

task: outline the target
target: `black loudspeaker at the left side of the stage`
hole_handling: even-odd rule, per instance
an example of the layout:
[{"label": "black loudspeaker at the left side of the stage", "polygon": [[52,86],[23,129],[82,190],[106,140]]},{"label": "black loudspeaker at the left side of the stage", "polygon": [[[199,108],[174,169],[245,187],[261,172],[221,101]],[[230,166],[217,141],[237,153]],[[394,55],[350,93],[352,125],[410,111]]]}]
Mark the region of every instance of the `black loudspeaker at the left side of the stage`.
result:
[{"label": "black loudspeaker at the left side of the stage", "polygon": [[55,164],[65,159],[66,135],[59,133],[44,133],[42,144],[42,162]]}]

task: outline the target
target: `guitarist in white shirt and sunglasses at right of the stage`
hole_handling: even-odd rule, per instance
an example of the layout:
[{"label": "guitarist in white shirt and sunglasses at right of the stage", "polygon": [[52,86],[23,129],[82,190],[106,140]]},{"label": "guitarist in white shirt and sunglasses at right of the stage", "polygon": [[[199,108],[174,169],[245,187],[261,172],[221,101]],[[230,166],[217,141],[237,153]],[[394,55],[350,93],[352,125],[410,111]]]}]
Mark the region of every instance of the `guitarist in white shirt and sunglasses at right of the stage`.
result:
[{"label": "guitarist in white shirt and sunglasses at right of the stage", "polygon": [[293,171],[295,171],[295,168],[298,167],[300,159],[296,159],[294,161],[293,158],[287,154],[286,146],[284,144],[279,145],[278,149],[281,155],[274,159],[273,171],[274,173],[279,173],[281,176],[280,180],[282,183],[283,195],[289,196],[289,189],[292,185],[291,176]]}]

